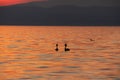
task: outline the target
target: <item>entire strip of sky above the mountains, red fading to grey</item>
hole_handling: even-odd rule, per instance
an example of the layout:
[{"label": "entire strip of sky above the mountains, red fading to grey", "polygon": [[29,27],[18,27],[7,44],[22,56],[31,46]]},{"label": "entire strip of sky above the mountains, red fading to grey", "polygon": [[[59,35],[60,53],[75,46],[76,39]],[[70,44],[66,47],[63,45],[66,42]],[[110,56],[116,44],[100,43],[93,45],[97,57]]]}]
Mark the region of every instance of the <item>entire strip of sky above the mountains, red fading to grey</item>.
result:
[{"label": "entire strip of sky above the mountains, red fading to grey", "polygon": [[[120,0],[0,0],[0,6],[15,5],[27,2],[43,2],[45,6],[77,5],[77,6],[120,6]],[[41,5],[37,2],[35,5]]]}]

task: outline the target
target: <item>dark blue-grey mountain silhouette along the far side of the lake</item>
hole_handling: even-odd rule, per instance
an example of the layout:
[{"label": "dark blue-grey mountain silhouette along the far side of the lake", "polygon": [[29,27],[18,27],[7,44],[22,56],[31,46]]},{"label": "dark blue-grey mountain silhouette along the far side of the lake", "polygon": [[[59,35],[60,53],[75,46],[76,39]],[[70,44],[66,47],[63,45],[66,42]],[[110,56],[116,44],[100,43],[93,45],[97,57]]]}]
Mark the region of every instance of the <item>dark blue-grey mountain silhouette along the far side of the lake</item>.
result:
[{"label": "dark blue-grey mountain silhouette along the far side of the lake", "polygon": [[120,25],[120,7],[30,6],[0,7],[0,25]]}]

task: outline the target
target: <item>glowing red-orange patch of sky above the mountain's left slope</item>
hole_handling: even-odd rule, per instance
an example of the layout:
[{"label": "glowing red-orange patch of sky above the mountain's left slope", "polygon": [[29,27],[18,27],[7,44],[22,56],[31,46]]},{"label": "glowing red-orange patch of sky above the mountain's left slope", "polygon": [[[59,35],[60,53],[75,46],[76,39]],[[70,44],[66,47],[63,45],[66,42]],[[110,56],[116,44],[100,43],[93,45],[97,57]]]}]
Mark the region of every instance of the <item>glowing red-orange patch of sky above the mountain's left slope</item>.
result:
[{"label": "glowing red-orange patch of sky above the mountain's left slope", "polygon": [[0,0],[0,6],[9,6],[9,5],[27,3],[32,1],[46,1],[46,0]]}]

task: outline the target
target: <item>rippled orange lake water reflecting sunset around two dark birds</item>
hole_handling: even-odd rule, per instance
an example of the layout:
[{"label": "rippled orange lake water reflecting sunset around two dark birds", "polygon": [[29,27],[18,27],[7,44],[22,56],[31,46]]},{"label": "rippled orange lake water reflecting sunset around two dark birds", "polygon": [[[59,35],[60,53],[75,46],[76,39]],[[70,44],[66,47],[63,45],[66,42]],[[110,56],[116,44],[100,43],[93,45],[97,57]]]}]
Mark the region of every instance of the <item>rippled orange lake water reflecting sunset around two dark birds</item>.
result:
[{"label": "rippled orange lake water reflecting sunset around two dark birds", "polygon": [[0,26],[0,80],[120,80],[120,27]]}]

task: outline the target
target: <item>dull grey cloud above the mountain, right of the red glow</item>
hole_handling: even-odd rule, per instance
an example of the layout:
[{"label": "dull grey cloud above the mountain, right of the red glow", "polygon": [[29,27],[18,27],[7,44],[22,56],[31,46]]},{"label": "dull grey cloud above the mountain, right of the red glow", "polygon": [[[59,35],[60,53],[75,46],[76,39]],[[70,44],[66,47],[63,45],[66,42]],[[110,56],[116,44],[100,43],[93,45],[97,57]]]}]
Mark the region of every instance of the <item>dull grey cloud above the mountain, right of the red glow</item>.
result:
[{"label": "dull grey cloud above the mountain, right of the red glow", "polygon": [[48,5],[120,6],[120,0],[48,0]]}]

